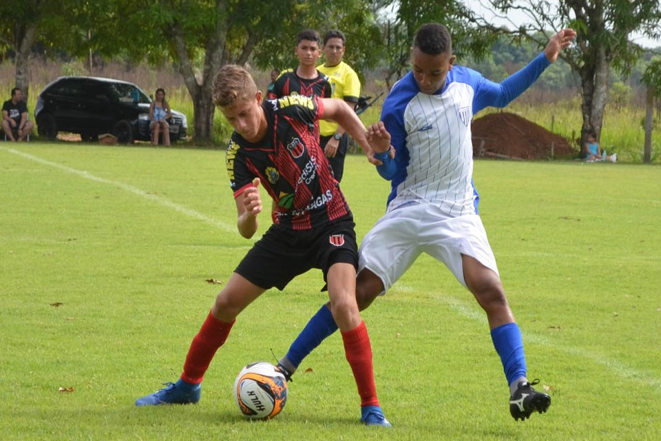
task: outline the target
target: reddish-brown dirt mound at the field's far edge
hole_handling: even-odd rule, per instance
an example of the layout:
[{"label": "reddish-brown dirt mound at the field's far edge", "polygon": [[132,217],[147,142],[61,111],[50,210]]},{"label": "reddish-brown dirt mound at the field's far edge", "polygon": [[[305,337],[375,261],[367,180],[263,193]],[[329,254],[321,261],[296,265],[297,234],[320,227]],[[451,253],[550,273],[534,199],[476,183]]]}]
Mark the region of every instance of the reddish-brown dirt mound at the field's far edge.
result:
[{"label": "reddish-brown dirt mound at the field's far edge", "polygon": [[[576,154],[563,137],[521,116],[501,112],[485,115],[472,123],[473,156],[544,159]],[[481,154],[483,150],[483,154]]]}]

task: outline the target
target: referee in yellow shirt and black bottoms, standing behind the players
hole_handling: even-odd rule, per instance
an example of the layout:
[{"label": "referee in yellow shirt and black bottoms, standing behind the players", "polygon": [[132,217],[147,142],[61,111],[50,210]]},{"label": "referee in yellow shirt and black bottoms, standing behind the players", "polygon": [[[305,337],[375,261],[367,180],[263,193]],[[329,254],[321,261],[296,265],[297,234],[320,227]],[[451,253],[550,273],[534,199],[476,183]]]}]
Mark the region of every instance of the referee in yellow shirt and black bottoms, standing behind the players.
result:
[{"label": "referee in yellow shirt and black bottoms, standing behind the players", "polygon": [[[342,31],[329,30],[324,35],[324,55],[326,61],[317,66],[317,70],[328,76],[332,98],[344,99],[351,107],[355,107],[360,96],[360,80],[356,72],[347,63],[344,57],[346,37]],[[348,135],[344,129],[333,121],[319,121],[319,145],[328,157],[330,167],[337,182],[342,181],[344,173],[344,156],[348,144]]]}]

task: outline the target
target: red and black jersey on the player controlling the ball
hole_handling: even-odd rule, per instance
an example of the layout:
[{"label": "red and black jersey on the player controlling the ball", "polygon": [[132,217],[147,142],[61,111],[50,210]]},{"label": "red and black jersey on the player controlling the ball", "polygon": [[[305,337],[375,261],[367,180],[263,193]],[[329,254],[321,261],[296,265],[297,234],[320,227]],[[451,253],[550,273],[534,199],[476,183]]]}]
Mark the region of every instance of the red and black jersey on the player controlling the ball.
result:
[{"label": "red and black jersey on the player controlling the ball", "polygon": [[311,229],[349,214],[349,207],[319,147],[324,105],[317,96],[284,96],[262,103],[268,127],[251,143],[234,132],[226,165],[234,197],[260,178],[275,201],[273,223]]}]

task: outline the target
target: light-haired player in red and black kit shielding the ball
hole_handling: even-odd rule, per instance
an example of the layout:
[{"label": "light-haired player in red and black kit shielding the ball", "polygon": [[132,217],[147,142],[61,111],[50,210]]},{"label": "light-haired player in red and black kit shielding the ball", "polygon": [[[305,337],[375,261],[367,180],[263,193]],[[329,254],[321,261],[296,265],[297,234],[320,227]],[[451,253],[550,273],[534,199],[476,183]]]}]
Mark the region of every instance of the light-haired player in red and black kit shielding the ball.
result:
[{"label": "light-haired player in red and black kit shielding the ball", "polygon": [[136,405],[198,402],[204,373],[236,316],[266,289],[282,290],[295,276],[319,268],[328,283],[330,311],[358,387],[361,421],[389,427],[377,399],[370,338],[356,302],[355,224],[319,147],[319,118],[323,116],[345,127],[372,154],[364,126],[339,99],[287,96],[262,103],[262,92],[237,65],[220,70],[213,99],[235,130],[226,163],[239,233],[251,238],[257,232],[263,208],[258,190],[261,182],[277,203],[274,223],[216,297],[193,338],[180,379],[139,398]]}]

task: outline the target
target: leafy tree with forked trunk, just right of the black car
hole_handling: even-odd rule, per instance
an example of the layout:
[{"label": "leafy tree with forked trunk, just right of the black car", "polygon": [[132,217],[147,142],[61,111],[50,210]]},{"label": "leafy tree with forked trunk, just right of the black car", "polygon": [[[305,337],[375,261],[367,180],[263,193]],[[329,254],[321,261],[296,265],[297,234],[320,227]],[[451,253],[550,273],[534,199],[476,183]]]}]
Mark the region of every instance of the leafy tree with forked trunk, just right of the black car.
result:
[{"label": "leafy tree with forked trunk, just right of the black car", "polygon": [[[184,79],[194,111],[194,136],[209,141],[215,106],[213,79],[223,65],[260,67],[293,59],[295,35],[304,28],[357,23],[369,34],[368,0],[114,0],[108,40],[134,59],[172,61]],[[347,25],[347,28],[353,28]],[[357,37],[356,41],[364,40]]]}]

